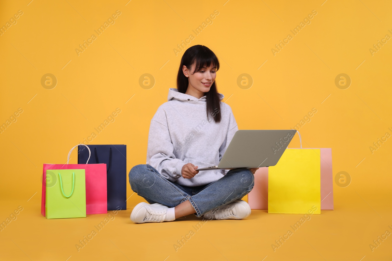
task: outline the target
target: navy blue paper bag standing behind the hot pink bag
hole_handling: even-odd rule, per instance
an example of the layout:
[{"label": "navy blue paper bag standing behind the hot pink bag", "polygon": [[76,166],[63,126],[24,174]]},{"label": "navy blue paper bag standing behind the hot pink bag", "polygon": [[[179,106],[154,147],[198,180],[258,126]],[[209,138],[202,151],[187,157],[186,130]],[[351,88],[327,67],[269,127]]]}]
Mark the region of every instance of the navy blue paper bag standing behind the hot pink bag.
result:
[{"label": "navy blue paper bag standing behind the hot pink bag", "polygon": [[[127,209],[127,145],[87,145],[91,151],[88,164],[106,164],[107,210]],[[78,164],[87,162],[89,151],[78,146]]]}]

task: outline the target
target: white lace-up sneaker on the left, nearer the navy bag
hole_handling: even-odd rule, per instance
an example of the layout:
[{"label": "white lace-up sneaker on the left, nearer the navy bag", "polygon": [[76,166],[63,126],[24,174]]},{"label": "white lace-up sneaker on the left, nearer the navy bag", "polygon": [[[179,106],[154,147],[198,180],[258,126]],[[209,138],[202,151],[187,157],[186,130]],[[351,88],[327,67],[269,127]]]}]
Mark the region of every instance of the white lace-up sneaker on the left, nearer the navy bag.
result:
[{"label": "white lace-up sneaker on the left, nearer the navy bag", "polygon": [[131,220],[135,223],[163,222],[169,207],[161,203],[140,202],[132,209]]}]

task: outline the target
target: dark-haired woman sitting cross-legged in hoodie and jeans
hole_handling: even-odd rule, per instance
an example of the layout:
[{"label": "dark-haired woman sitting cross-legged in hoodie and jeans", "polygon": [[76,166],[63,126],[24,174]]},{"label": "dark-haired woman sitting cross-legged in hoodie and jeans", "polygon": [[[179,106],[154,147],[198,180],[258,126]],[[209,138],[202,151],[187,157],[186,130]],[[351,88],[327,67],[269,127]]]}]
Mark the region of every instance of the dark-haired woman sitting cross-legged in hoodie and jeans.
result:
[{"label": "dark-haired woman sitting cross-legged in hoodie and jeans", "polygon": [[132,191],[149,202],[131,213],[135,223],[173,221],[195,214],[208,219],[250,215],[241,200],[254,185],[258,168],[203,170],[218,165],[238,130],[229,105],[216,87],[216,55],[203,45],[187,49],[167,102],[152,117],[147,164],[132,167]]}]

